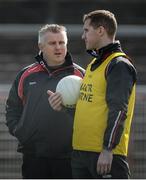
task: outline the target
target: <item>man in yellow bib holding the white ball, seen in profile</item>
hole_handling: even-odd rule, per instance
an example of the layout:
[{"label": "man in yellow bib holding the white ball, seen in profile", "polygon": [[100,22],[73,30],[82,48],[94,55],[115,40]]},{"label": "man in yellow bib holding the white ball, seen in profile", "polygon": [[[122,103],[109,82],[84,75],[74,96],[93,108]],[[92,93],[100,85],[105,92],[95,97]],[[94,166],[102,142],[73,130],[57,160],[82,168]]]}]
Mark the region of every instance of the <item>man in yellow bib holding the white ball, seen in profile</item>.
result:
[{"label": "man in yellow bib holding the white ball, seen in profile", "polygon": [[[136,70],[115,41],[117,21],[106,10],[83,17],[88,65],[76,105],[73,178],[130,177],[127,151],[135,103]],[[61,110],[61,97],[49,93],[53,109]]]}]

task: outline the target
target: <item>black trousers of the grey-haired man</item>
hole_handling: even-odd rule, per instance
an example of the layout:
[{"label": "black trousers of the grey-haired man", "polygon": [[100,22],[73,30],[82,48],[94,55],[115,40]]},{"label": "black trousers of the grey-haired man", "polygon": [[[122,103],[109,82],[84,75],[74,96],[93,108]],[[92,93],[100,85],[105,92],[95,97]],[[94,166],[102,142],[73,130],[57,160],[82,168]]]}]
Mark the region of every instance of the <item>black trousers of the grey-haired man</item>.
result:
[{"label": "black trousers of the grey-haired man", "polygon": [[24,179],[71,179],[71,159],[38,158],[24,154],[22,177]]}]

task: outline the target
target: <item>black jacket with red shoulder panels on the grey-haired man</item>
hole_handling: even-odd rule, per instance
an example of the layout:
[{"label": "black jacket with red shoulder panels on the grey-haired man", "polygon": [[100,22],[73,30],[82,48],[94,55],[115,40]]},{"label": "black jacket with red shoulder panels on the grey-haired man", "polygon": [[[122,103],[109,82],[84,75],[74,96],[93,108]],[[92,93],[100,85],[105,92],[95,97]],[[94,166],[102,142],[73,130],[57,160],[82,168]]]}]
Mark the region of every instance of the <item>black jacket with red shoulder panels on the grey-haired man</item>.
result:
[{"label": "black jacket with red shoulder panels on the grey-haired man", "polygon": [[60,67],[48,67],[38,55],[34,64],[18,73],[6,102],[6,124],[19,140],[19,152],[57,158],[72,151],[73,118],[54,111],[47,95],[61,78],[72,74],[83,77],[84,70],[69,53]]}]

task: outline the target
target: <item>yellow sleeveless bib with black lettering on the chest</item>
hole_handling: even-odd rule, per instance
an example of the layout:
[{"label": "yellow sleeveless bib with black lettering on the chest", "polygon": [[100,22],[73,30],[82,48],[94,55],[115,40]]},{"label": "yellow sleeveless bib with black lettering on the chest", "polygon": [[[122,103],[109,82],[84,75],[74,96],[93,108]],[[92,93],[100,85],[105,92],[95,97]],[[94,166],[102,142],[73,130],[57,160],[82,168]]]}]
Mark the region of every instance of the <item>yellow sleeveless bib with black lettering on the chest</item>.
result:
[{"label": "yellow sleeveless bib with black lettering on the chest", "polygon": [[[118,56],[126,55],[121,52],[113,53],[94,71],[90,71],[90,68],[95,59],[87,67],[75,113],[73,148],[76,150],[101,152],[103,149],[109,111],[105,100],[107,86],[105,69],[110,61]],[[120,143],[113,149],[114,154],[127,155],[134,102],[135,86],[129,99],[124,131]]]}]

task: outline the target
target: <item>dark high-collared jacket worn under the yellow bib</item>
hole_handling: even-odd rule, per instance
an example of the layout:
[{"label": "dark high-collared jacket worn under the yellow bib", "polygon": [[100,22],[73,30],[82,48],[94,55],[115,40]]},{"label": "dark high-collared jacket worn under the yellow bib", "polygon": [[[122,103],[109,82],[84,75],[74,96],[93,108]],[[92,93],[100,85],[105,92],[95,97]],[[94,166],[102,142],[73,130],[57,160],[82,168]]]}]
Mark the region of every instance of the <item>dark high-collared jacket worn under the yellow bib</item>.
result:
[{"label": "dark high-collared jacket worn under the yellow bib", "polygon": [[[113,52],[122,52],[122,49],[120,42],[117,41],[98,51],[89,50],[87,52],[96,58],[95,63],[91,67],[91,70],[94,71],[104,62],[106,57]],[[109,63],[105,69],[105,78],[107,80],[105,99],[109,108],[109,114],[103,146],[105,149],[113,149],[119,143],[123,132],[128,101],[133,85],[137,79],[137,73],[130,58],[120,56],[114,58]],[[121,112],[120,116],[118,116],[119,112]],[[117,119],[119,123],[115,125]],[[112,136],[114,136],[114,138],[112,138]],[[110,139],[113,141],[110,141]]]}]

